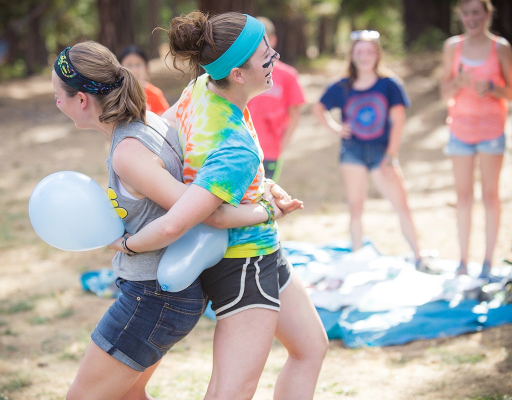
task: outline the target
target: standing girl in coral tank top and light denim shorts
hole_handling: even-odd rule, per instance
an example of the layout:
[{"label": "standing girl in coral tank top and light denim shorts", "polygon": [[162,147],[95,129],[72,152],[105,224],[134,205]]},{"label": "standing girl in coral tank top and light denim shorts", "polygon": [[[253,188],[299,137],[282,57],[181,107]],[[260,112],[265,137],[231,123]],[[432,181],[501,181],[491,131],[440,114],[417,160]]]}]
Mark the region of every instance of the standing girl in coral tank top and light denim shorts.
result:
[{"label": "standing girl in coral tank top and light denim shorts", "polygon": [[464,34],[443,49],[441,96],[448,100],[450,139],[444,152],[453,162],[459,230],[459,274],[467,273],[477,156],[485,208],[486,247],[480,278],[488,279],[500,222],[499,178],[505,151],[504,127],[512,99],[512,51],[489,32],[490,0],[459,0]]}]

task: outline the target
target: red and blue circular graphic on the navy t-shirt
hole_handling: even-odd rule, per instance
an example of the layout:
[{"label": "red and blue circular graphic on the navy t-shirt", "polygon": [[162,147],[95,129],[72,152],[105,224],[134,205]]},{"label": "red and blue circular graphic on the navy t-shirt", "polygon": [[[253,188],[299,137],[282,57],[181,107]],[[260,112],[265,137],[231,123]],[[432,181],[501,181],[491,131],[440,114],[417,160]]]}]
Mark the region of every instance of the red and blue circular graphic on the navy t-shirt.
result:
[{"label": "red and blue circular graphic on the navy t-shirt", "polygon": [[345,107],[346,121],[352,135],[360,140],[382,136],[386,129],[388,100],[381,93],[360,93],[351,96]]}]

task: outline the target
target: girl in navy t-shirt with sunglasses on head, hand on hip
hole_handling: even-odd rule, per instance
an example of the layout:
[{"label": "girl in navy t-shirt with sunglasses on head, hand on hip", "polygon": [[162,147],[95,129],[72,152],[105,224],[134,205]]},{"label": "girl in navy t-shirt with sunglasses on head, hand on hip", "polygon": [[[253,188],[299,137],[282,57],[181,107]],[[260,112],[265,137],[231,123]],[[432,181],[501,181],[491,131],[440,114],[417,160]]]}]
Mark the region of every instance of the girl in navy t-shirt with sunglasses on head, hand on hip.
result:
[{"label": "girl in navy t-shirt with sunglasses on head, hand on hip", "polygon": [[[352,249],[362,247],[361,215],[371,177],[398,213],[402,233],[419,268],[420,250],[398,164],[410,100],[401,83],[379,66],[379,33],[356,31],[350,36],[353,45],[348,73],[327,88],[313,112],[342,139],[339,162],[350,209]],[[341,110],[341,123],[329,112],[335,108]]]}]

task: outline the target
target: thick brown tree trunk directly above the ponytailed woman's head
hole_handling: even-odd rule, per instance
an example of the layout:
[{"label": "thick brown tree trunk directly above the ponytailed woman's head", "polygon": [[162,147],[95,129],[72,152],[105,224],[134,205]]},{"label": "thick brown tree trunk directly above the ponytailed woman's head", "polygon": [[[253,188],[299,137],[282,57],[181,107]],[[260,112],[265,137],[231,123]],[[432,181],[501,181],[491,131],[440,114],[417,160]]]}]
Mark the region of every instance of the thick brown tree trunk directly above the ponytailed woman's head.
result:
[{"label": "thick brown tree trunk directly above the ponytailed woman's head", "polygon": [[134,43],[134,0],[98,0],[100,20],[99,41],[114,54]]}]

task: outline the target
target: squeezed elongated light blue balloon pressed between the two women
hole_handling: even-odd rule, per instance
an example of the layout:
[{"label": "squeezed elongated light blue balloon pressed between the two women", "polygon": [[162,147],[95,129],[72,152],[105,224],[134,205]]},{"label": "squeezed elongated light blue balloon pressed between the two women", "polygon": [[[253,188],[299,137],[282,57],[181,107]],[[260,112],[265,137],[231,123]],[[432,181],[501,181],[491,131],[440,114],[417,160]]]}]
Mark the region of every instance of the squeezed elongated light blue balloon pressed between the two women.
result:
[{"label": "squeezed elongated light blue balloon pressed between the two women", "polygon": [[222,260],[228,239],[227,229],[199,223],[168,245],[158,264],[162,290],[177,292],[188,287],[206,268]]}]

